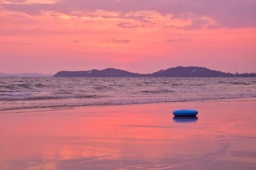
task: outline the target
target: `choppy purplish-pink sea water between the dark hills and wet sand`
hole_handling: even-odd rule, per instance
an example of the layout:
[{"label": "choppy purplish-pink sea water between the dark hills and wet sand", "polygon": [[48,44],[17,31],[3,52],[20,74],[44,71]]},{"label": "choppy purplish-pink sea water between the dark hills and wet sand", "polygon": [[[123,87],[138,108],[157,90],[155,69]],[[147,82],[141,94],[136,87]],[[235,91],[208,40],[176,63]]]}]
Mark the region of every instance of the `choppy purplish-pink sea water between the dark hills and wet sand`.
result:
[{"label": "choppy purplish-pink sea water between the dark hills and wet sand", "polygon": [[256,78],[0,78],[0,111],[256,97]]}]

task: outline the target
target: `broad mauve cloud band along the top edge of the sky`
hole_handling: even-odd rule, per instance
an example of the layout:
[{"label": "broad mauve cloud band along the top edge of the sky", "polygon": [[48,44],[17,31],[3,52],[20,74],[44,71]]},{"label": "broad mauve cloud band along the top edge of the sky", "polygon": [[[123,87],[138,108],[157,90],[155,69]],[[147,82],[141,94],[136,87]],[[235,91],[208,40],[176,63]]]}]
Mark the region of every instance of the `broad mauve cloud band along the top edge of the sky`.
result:
[{"label": "broad mauve cloud band along the top edge of the sky", "polygon": [[[25,12],[31,15],[40,15],[42,11],[67,14],[74,11],[93,12],[95,10],[121,12],[123,14],[156,11],[163,15],[172,14],[173,17],[179,19],[187,19],[191,13],[201,17],[206,16],[214,19],[219,27],[256,26],[256,3],[254,0],[2,0],[0,4],[7,10]],[[141,20],[147,21],[147,16]]]}]

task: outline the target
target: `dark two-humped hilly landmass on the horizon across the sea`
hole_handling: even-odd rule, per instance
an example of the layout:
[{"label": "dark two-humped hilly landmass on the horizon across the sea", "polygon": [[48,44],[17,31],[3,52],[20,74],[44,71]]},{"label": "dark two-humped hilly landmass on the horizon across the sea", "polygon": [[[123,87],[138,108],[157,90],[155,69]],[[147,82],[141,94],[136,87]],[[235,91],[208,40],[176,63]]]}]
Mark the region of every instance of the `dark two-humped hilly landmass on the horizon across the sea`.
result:
[{"label": "dark two-humped hilly landmass on the horizon across the sea", "polygon": [[61,71],[54,77],[256,77],[256,73],[225,73],[198,66],[177,66],[158,72],[141,74],[115,68],[89,71]]}]

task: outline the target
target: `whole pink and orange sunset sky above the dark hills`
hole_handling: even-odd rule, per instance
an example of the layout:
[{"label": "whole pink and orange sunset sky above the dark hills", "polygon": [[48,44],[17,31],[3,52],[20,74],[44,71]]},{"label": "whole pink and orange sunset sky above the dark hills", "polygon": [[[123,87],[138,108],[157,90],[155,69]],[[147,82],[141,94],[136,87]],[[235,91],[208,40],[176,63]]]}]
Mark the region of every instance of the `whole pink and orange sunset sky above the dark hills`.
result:
[{"label": "whole pink and orange sunset sky above the dark hills", "polygon": [[256,0],[0,0],[0,72],[256,72]]}]

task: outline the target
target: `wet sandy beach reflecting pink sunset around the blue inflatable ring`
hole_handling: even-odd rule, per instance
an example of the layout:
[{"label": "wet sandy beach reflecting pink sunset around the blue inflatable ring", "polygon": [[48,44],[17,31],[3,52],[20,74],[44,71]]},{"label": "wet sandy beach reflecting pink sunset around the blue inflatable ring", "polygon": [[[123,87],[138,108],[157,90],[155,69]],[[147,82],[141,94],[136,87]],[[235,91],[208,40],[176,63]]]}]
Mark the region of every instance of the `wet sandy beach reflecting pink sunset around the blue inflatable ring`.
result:
[{"label": "wet sandy beach reflecting pink sunset around the blue inflatable ring", "polygon": [[0,169],[256,169],[256,99],[2,111],[0,137]]}]

